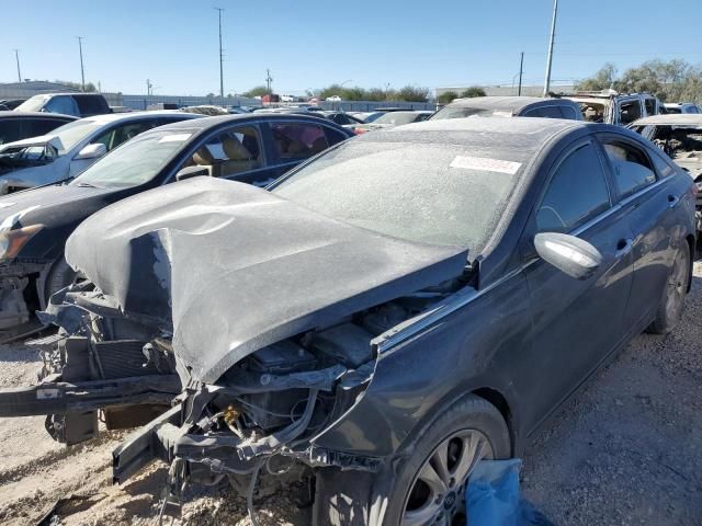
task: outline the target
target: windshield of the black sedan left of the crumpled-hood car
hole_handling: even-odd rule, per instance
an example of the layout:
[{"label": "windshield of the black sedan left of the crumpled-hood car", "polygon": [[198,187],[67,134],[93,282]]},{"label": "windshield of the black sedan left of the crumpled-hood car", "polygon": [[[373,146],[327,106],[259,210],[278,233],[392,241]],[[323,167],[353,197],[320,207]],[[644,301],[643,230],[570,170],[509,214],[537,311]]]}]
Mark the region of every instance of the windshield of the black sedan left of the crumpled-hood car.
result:
[{"label": "windshield of the black sedan left of the crumpled-hood car", "polygon": [[124,188],[152,180],[183,147],[191,133],[139,135],[88,168],[70,184]]}]

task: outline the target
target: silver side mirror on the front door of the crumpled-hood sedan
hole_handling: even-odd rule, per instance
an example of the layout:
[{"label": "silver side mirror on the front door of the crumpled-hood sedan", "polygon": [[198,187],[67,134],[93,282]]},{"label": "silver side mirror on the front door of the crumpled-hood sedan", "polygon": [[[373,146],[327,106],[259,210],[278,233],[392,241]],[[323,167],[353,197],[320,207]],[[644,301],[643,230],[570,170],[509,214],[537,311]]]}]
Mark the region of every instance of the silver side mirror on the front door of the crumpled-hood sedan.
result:
[{"label": "silver side mirror on the front door of the crumpled-hood sedan", "polygon": [[567,233],[537,233],[534,248],[544,261],[576,279],[587,279],[602,264],[599,250],[587,241]]}]

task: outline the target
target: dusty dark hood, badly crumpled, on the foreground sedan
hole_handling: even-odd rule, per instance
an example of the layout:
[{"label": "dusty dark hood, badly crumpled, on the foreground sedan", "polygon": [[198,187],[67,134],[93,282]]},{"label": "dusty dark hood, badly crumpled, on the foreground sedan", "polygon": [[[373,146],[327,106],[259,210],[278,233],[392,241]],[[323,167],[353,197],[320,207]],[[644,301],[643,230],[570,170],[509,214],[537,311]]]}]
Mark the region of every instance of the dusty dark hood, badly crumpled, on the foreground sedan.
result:
[{"label": "dusty dark hood, badly crumpled, on the foreground sedan", "polygon": [[456,277],[467,251],[195,178],[94,214],[68,239],[66,259],[127,316],[172,329],[191,376],[214,382],[265,345]]}]

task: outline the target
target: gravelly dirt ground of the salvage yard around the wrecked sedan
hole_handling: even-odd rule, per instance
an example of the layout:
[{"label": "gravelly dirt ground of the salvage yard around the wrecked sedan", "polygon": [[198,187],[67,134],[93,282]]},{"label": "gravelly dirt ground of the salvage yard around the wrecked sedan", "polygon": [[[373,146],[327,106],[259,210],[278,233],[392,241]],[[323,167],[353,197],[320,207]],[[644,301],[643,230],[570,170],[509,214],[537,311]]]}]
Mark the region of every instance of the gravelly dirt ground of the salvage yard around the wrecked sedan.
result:
[{"label": "gravelly dirt ground of the salvage yard around the wrecked sedan", "polygon": [[[555,524],[702,525],[702,265],[694,274],[679,328],[638,336],[528,448],[524,495]],[[0,346],[0,386],[26,385],[36,369],[35,352]],[[158,524],[165,466],[110,483],[111,450],[125,435],[66,448],[49,438],[43,418],[0,419],[0,524],[45,516],[50,526]],[[259,523],[309,524],[303,490],[292,485],[258,503]],[[199,491],[183,524],[251,524],[228,488]]]}]

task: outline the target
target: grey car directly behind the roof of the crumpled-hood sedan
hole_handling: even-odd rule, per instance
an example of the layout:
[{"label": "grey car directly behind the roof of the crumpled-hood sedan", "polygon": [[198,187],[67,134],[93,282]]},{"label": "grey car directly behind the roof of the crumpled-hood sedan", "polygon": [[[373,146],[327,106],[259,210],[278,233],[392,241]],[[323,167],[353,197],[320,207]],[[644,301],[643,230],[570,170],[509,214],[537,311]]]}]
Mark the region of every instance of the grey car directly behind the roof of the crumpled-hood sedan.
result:
[{"label": "grey car directly behind the roof of the crumpled-hood sedan", "polygon": [[537,96],[474,96],[455,99],[431,117],[432,121],[463,117],[550,117],[582,121],[579,106],[563,99]]}]

